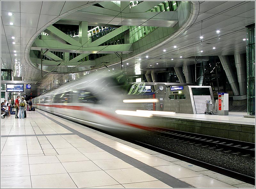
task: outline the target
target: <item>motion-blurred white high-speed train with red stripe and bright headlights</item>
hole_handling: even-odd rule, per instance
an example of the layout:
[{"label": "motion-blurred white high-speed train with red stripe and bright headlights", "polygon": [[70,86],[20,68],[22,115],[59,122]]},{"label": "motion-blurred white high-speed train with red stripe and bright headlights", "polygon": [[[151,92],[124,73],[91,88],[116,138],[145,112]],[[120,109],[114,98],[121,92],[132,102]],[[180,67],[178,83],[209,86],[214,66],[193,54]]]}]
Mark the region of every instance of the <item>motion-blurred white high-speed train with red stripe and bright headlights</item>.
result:
[{"label": "motion-blurred white high-speed train with red stripe and bright headlights", "polygon": [[141,111],[141,103],[156,99],[134,99],[138,96],[127,95],[131,86],[124,77],[96,72],[37,96],[32,102],[36,109],[103,130],[138,131],[155,126],[152,114]]}]

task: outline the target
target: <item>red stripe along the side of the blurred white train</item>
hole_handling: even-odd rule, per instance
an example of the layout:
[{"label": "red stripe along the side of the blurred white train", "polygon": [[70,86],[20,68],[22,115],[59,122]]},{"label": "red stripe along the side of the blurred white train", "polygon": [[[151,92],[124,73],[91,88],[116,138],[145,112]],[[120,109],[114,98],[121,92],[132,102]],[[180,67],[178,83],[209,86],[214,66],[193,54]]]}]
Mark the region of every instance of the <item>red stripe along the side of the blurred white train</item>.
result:
[{"label": "red stripe along the side of the blurred white train", "polygon": [[116,122],[118,123],[121,123],[121,124],[124,124],[124,125],[128,125],[128,126],[131,126],[131,127],[136,127],[136,128],[139,128],[139,129],[144,129],[144,130],[148,130],[149,127],[145,127],[145,126],[141,126],[141,125],[136,125],[136,124],[132,124],[132,123],[127,123],[126,121],[120,119],[120,118],[117,118],[115,116],[112,116],[112,115],[109,115],[109,114],[106,114],[102,111],[99,111],[99,110],[93,110],[91,108],[88,108],[88,107],[84,107],[84,106],[69,106],[69,105],[46,105],[46,104],[35,104],[35,105],[38,105],[38,106],[47,106],[47,107],[54,107],[54,108],[63,108],[63,109],[70,109],[70,110],[81,110],[81,111],[87,111],[87,112],[91,112],[91,113],[94,113],[94,114],[98,114],[102,117],[105,117],[105,118],[108,118],[108,119],[111,119],[111,120],[115,120]]}]

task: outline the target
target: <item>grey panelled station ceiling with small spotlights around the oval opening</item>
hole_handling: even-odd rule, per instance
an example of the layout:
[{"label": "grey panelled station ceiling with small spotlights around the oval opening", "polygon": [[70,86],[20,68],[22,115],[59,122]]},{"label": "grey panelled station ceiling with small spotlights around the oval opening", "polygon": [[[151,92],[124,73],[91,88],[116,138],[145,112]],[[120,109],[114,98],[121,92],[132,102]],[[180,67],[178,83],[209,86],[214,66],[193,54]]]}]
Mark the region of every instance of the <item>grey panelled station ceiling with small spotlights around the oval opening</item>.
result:
[{"label": "grey panelled station ceiling with small spotlights around the oval opening", "polygon": [[[110,17],[105,17],[104,14],[95,16],[95,13],[88,10],[96,3],[107,2],[1,1],[1,69],[12,69],[13,76],[22,77],[24,81],[37,81],[36,84],[32,84],[34,95],[85,75],[85,72],[56,74],[43,71],[42,78],[41,70],[36,69],[30,62],[29,51],[38,35],[53,23],[78,25],[81,21],[88,21],[95,25],[108,23],[127,26],[138,26],[134,23],[143,23],[140,19],[133,20],[132,14],[127,14],[127,19],[123,23],[122,19],[118,19],[120,11],[116,8],[112,8]],[[159,1],[156,3],[159,4]],[[162,72],[168,67],[193,64],[195,56],[246,53],[246,40],[243,40],[246,39],[245,26],[255,23],[255,1],[196,1],[196,4],[199,7],[196,19],[184,33],[162,43],[157,49],[145,50],[138,53],[139,56],[124,59],[128,75]],[[8,15],[9,13],[12,15]],[[122,13],[124,15],[127,11]],[[109,22],[111,18],[116,19]],[[160,24],[159,20],[154,19],[148,21],[155,26],[173,24]],[[200,39],[200,36],[204,38]],[[120,64],[115,64],[111,68],[118,70]]]}]

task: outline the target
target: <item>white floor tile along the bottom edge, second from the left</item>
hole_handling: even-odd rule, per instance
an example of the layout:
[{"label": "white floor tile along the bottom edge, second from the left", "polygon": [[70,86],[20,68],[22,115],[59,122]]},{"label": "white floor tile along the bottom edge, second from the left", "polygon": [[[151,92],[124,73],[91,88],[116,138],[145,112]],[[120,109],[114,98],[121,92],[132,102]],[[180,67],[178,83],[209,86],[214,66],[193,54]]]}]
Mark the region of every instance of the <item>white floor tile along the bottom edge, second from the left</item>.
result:
[{"label": "white floor tile along the bottom edge, second from the left", "polygon": [[31,182],[33,188],[77,188],[67,173],[31,176]]}]

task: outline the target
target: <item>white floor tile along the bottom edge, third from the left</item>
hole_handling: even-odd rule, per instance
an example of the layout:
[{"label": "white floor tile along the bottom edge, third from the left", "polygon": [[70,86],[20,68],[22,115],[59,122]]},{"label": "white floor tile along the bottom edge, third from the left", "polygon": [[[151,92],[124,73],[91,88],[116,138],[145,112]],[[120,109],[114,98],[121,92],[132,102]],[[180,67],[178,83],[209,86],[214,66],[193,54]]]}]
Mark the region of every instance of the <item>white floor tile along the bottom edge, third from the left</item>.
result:
[{"label": "white floor tile along the bottom edge, third from the left", "polygon": [[112,177],[110,177],[103,170],[69,173],[78,188],[94,187],[94,186],[106,186],[106,185],[118,185]]}]

